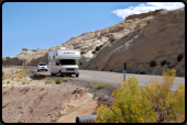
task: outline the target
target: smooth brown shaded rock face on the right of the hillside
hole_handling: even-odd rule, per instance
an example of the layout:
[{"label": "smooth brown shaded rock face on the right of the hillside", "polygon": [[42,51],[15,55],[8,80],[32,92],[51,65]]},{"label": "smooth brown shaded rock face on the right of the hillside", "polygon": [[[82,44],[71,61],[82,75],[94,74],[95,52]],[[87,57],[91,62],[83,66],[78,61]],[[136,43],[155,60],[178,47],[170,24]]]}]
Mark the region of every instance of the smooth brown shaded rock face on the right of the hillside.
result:
[{"label": "smooth brown shaded rock face on the right of the hillside", "polygon": [[[161,11],[147,25],[105,46],[82,68],[122,72],[127,63],[129,73],[162,75],[164,69],[175,68],[177,76],[185,77],[185,57],[178,61],[179,54],[185,55],[184,9]],[[151,60],[157,66],[151,67]],[[164,60],[167,64],[162,66]]]}]

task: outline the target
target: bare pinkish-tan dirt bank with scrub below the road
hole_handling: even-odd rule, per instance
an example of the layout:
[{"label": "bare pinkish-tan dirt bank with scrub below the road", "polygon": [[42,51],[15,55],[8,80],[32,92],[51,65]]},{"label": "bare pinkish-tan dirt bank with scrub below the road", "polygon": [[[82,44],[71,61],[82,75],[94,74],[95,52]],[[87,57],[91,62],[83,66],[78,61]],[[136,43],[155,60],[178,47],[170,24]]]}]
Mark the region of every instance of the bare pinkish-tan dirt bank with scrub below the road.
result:
[{"label": "bare pinkish-tan dirt bank with scrub below the road", "polygon": [[94,115],[100,104],[113,100],[116,87],[92,91],[86,81],[55,84],[55,78],[35,78],[31,70],[2,67],[2,71],[4,123],[75,123],[76,116]]}]

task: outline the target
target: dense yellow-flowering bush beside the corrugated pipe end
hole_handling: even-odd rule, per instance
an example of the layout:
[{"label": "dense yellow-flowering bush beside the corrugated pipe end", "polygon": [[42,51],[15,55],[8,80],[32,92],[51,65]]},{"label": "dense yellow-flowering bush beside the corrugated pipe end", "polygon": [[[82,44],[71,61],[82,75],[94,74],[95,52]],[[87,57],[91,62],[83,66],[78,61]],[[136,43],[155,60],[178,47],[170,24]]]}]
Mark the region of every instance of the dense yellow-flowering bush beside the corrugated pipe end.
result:
[{"label": "dense yellow-flowering bush beside the corrugated pipe end", "polygon": [[128,82],[120,82],[112,95],[114,101],[110,107],[102,104],[98,107],[96,123],[156,122],[156,113],[152,110],[151,101],[142,94],[134,77]]}]

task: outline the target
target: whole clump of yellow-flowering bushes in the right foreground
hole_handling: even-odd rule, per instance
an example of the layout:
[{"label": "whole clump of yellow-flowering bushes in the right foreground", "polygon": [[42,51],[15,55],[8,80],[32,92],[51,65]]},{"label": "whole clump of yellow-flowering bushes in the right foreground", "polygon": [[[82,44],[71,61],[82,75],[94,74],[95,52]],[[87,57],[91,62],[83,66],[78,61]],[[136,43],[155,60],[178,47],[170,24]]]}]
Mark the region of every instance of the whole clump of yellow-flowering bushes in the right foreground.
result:
[{"label": "whole clump of yellow-flowering bushes in the right foreground", "polygon": [[176,77],[175,69],[163,71],[163,81],[156,78],[139,89],[136,78],[119,82],[112,92],[112,105],[100,105],[96,123],[182,123],[185,121],[185,86],[169,93]]}]

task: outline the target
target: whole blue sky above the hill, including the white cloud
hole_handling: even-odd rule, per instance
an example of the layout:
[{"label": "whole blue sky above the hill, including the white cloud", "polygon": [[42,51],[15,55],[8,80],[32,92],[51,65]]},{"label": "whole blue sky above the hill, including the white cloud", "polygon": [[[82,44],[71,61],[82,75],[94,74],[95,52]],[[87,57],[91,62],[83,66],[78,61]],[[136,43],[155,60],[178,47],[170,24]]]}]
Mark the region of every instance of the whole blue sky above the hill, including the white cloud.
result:
[{"label": "whole blue sky above the hill, including the white cloud", "polygon": [[22,48],[44,49],[86,32],[112,26],[125,16],[156,9],[177,9],[183,2],[4,2],[2,58]]}]

